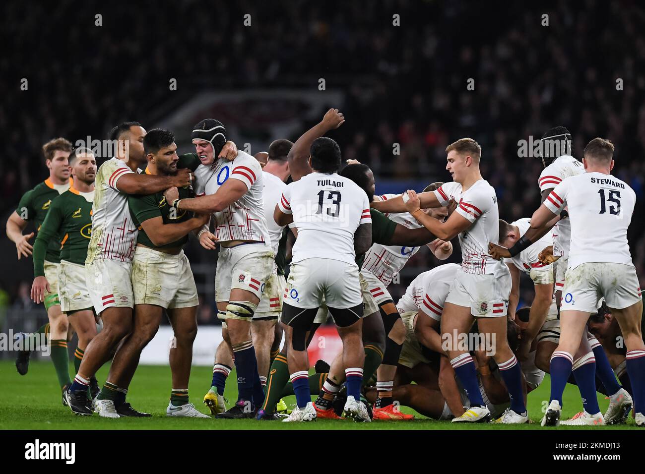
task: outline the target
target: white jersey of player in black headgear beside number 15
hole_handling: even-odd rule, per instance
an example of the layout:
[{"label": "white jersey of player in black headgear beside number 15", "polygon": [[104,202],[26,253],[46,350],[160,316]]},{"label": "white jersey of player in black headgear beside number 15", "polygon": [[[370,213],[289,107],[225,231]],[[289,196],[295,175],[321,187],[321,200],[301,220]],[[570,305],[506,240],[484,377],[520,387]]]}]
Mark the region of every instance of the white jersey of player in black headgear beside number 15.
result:
[{"label": "white jersey of player in black headgear beside number 15", "polygon": [[[560,184],[564,178],[577,176],[584,173],[584,166],[571,155],[562,155],[553,160],[549,166],[542,170],[538,184],[540,192],[553,189]],[[564,259],[569,257],[571,242],[571,223],[564,219],[553,226],[553,255]]]}]

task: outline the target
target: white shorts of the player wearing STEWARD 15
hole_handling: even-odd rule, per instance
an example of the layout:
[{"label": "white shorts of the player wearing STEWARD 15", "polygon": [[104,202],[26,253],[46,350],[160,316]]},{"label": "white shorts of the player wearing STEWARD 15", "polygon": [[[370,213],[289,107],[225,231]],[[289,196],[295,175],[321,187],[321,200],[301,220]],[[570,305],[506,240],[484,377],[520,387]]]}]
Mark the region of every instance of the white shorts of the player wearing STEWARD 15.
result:
[{"label": "white shorts of the player wearing STEWARD 15", "polygon": [[622,263],[583,263],[566,273],[560,311],[595,313],[604,297],[607,306],[622,310],[641,300],[636,269]]}]

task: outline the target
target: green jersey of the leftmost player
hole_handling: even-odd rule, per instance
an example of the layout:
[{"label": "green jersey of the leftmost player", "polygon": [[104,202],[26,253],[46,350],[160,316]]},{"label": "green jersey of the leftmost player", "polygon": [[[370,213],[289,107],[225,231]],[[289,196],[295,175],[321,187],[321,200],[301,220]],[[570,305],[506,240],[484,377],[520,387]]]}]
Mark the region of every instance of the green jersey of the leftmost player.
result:
[{"label": "green jersey of the leftmost player", "polygon": [[[68,190],[72,183],[72,178],[70,178],[67,184],[57,186],[47,178],[43,183],[37,184],[34,189],[23,194],[15,212],[21,219],[32,222],[36,232],[40,232],[52,200]],[[53,263],[60,261],[61,237],[62,235],[56,235],[47,241],[46,261]]]}]

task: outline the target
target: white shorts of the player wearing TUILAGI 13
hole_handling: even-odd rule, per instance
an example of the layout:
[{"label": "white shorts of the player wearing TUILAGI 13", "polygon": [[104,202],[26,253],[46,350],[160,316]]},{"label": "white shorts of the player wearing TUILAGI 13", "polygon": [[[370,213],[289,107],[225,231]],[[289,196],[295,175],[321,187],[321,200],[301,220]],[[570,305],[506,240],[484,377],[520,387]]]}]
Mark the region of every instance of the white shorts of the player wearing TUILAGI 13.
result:
[{"label": "white shorts of the player wearing TUILAGI 13", "polygon": [[362,303],[359,268],[339,260],[312,258],[291,264],[284,302],[296,308],[344,310]]}]

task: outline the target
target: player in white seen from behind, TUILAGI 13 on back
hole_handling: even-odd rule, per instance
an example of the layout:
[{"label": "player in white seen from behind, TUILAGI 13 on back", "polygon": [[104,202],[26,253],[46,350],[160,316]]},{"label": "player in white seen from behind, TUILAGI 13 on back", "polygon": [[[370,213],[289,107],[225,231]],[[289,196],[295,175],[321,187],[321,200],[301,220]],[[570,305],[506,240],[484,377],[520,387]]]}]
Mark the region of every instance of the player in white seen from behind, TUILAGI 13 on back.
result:
[{"label": "player in white seen from behind, TUILAGI 13 on back", "polygon": [[284,290],[283,323],[290,335],[288,364],[297,400],[285,421],[310,421],[316,411],[308,385],[306,336],[324,301],[343,343],[343,366],[348,398],[347,417],[370,421],[360,400],[363,366],[361,341],[362,296],[357,253],[372,243],[372,218],[366,193],[337,174],[341,151],[327,137],[310,148],[313,172],[287,186],[275,209],[275,221],[293,222],[298,238],[293,246],[291,272]]}]

